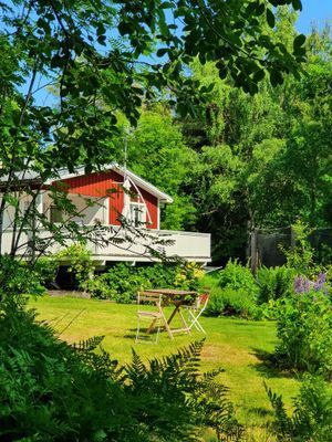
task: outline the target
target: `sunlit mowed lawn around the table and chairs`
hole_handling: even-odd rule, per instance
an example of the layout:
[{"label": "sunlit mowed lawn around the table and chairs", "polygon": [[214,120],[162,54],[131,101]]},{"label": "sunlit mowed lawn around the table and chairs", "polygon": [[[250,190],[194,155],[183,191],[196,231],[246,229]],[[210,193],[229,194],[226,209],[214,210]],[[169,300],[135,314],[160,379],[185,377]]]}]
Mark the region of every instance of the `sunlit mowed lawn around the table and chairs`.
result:
[{"label": "sunlit mowed lawn around the table and chairs", "polygon": [[[135,305],[43,296],[31,299],[29,306],[38,311],[40,320],[51,324],[59,337],[69,343],[104,335],[103,347],[121,364],[131,361],[133,348],[147,361],[204,337],[195,330],[190,335],[176,335],[172,341],[162,333],[157,345],[135,344]],[[219,380],[230,389],[237,417],[248,429],[248,440],[273,441],[266,430],[272,413],[263,382],[281,393],[288,407],[299,390],[299,381],[272,370],[261,360],[260,355],[274,348],[276,324],[208,317],[201,318],[201,324],[207,332],[201,370],[225,368]]]}]

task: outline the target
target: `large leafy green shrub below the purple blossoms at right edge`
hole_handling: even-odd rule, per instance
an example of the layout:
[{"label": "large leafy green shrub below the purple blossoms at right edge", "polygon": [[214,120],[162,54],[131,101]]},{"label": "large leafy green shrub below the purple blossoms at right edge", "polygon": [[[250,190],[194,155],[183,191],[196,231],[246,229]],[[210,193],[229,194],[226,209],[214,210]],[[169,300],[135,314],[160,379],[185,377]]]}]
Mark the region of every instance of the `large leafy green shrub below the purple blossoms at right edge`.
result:
[{"label": "large leafy green shrub below the purple blossoms at right edge", "polygon": [[331,299],[322,291],[280,301],[276,356],[288,368],[332,377]]}]

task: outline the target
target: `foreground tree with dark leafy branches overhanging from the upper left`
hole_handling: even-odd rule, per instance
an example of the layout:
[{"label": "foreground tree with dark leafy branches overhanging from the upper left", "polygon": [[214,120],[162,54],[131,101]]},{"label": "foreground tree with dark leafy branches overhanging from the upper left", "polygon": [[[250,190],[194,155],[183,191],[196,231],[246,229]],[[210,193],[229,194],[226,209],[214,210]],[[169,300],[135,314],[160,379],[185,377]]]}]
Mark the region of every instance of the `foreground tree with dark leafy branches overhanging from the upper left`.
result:
[{"label": "foreground tree with dark leafy branches overhanging from the upper left", "polygon": [[[13,189],[22,190],[18,173],[25,176],[29,169],[45,182],[63,166],[70,171],[77,165],[86,171],[98,167],[110,159],[118,110],[135,125],[143,96],[151,99],[162,88],[177,112],[195,115],[210,91],[186,74],[196,56],[201,63],[216,62],[221,76],[229,73],[250,93],[264,73],[273,85],[283,74],[297,73],[304,38],[297,36],[288,51],[257,19],[266,17],[272,28],[272,7],[279,3],[301,8],[300,0],[1,3],[0,175],[6,185],[0,253],[8,206],[15,212],[12,254],[19,244],[20,196],[12,198]],[[58,98],[44,103],[42,91],[52,85]],[[35,201],[39,189],[24,190]],[[33,207],[30,212],[37,214]],[[51,229],[45,219],[40,222]]]}]

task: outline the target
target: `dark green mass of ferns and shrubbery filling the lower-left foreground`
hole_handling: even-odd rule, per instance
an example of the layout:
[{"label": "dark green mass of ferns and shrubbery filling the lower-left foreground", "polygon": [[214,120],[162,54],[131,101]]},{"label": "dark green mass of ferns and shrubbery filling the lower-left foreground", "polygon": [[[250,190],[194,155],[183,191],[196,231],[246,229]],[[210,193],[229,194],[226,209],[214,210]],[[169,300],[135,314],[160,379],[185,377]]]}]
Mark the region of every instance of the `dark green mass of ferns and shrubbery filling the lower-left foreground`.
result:
[{"label": "dark green mass of ferns and shrubbery filling the lower-left foreground", "polygon": [[199,376],[203,343],[144,365],[120,367],[102,338],[75,347],[34,322],[33,313],[0,316],[0,439],[3,441],[199,441],[204,427],[239,440],[219,373]]}]

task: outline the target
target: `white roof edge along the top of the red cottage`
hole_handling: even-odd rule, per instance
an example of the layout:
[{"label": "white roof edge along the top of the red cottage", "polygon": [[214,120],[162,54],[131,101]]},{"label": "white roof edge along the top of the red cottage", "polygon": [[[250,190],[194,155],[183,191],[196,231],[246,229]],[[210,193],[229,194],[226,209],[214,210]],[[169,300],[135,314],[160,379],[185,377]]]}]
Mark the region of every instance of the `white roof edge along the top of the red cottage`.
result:
[{"label": "white roof edge along the top of the red cottage", "polygon": [[[117,165],[116,162],[112,162],[110,165],[102,166],[101,170],[110,170],[113,169],[115,171],[118,171],[122,176],[125,173],[133,180],[135,183],[141,187],[142,189],[148,191],[149,193],[154,194],[155,197],[158,198],[158,200],[164,201],[164,202],[173,202],[173,198],[169,197],[169,194],[163,192],[158,188],[156,188],[154,185],[151,182],[146,181],[145,179],[138,177],[138,175],[132,172],[128,169],[125,169],[124,167]],[[96,171],[93,171],[92,173],[95,173]],[[68,169],[60,169],[59,170],[59,178],[51,178],[49,179],[45,185],[51,185],[53,181],[56,181],[58,179],[69,179],[69,178],[74,178],[81,175],[85,175],[84,167],[80,167],[76,169],[75,172],[70,173]]]}]

